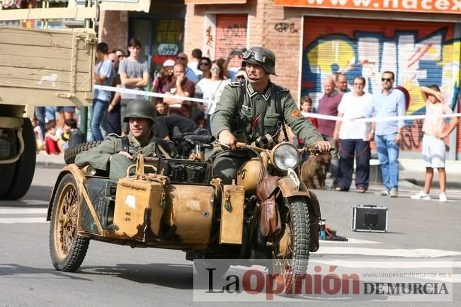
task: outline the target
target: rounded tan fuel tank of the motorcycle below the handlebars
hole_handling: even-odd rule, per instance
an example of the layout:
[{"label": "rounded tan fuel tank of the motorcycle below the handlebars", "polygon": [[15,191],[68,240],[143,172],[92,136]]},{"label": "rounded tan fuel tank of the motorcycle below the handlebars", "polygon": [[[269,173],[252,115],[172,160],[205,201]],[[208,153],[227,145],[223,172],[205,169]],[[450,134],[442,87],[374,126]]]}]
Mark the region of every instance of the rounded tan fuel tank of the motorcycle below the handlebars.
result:
[{"label": "rounded tan fuel tank of the motorcycle below the handlebars", "polygon": [[256,193],[256,188],[266,178],[266,168],[260,158],[251,158],[237,171],[237,185],[243,185],[245,193]]}]

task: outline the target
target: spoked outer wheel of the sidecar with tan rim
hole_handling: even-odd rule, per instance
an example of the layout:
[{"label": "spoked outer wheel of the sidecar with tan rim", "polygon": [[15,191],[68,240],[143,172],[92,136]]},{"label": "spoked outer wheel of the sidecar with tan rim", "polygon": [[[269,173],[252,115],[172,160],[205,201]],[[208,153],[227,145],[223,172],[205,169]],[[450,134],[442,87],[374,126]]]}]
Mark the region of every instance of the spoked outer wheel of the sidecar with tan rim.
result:
[{"label": "spoked outer wheel of the sidecar with tan rim", "polygon": [[53,199],[50,255],[56,270],[74,272],[84,261],[89,238],[79,236],[79,190],[72,174],[64,175]]}]

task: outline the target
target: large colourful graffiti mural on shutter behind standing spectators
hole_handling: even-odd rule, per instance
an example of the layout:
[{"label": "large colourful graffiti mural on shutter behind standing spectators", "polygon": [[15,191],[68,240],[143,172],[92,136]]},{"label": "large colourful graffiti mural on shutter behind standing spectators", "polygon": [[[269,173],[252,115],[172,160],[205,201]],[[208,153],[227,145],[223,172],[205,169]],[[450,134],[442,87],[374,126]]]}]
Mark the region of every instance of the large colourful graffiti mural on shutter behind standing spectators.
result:
[{"label": "large colourful graffiti mural on shutter behind standing spectators", "polygon": [[[346,74],[349,88],[364,76],[365,90],[381,90],[383,71],[394,71],[396,85],[410,93],[407,115],[425,112],[419,86],[437,84],[445,102],[455,106],[460,66],[460,40],[453,23],[365,21],[306,17],[302,59],[302,95],[314,104],[321,98],[321,81],[336,72]],[[459,25],[456,25],[459,26]],[[419,150],[421,124],[407,122],[403,148]]]}]

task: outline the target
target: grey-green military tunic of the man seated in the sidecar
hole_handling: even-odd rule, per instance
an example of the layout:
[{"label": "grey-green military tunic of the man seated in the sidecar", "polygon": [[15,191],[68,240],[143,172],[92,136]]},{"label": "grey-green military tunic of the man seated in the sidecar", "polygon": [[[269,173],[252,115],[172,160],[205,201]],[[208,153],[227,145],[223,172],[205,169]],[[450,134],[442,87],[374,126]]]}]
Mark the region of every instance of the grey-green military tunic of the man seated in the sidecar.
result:
[{"label": "grey-green military tunic of the man seated in the sidecar", "polygon": [[[128,153],[133,157],[130,159],[123,154],[118,154],[123,151],[122,138],[109,136],[98,146],[79,153],[75,157],[75,164],[80,167],[89,165],[98,170],[109,170],[110,179],[118,180],[125,177],[127,168],[136,163],[137,155],[141,152],[148,157],[164,156],[158,148],[158,142],[159,139],[154,135],[149,141],[140,142],[130,132],[128,134]],[[163,146],[163,148],[172,158],[175,158],[177,156],[176,149],[171,142],[168,145],[168,147]]]}]

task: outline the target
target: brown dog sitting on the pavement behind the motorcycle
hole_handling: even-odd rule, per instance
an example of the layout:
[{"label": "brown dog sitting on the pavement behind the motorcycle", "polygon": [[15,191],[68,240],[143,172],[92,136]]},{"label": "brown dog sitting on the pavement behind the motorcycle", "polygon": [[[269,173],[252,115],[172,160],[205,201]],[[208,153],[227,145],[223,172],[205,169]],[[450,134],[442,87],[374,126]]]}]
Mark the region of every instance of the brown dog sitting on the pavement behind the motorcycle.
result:
[{"label": "brown dog sitting on the pavement behind the motorcycle", "polygon": [[308,189],[325,189],[326,173],[329,170],[331,154],[311,156],[301,166],[301,180]]}]

